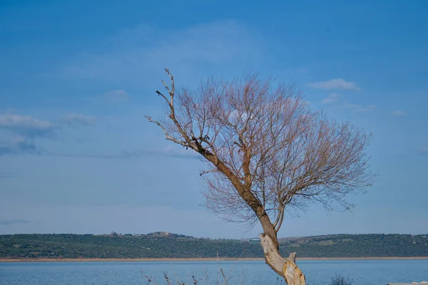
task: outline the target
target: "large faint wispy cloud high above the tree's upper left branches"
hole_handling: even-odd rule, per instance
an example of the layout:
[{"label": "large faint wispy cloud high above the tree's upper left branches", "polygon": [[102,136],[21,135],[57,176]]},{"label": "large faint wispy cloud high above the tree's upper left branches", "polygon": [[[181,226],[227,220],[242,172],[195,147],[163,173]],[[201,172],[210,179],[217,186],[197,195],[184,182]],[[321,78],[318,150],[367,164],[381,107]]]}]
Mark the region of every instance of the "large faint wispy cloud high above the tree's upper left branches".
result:
[{"label": "large faint wispy cloud high above the tree's upper left branches", "polygon": [[158,84],[163,68],[168,67],[179,72],[181,78],[199,81],[200,74],[208,71],[209,75],[215,68],[223,71],[225,66],[239,66],[242,71],[254,67],[253,63],[262,62],[261,55],[265,55],[262,46],[257,31],[237,21],[215,21],[180,30],[139,25],[81,54],[56,76],[147,86]]}]

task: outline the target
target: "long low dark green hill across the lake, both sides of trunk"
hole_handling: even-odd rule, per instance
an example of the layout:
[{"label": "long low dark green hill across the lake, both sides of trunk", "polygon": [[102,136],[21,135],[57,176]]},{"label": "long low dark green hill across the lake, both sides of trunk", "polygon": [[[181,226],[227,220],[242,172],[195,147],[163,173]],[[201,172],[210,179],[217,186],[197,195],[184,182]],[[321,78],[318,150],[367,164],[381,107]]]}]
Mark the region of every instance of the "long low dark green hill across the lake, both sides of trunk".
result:
[{"label": "long low dark green hill across the lake, both sides of trunk", "polygon": [[[297,257],[428,257],[428,235],[334,234],[280,239]],[[0,235],[0,259],[263,257],[257,239],[199,239],[181,234]]]}]

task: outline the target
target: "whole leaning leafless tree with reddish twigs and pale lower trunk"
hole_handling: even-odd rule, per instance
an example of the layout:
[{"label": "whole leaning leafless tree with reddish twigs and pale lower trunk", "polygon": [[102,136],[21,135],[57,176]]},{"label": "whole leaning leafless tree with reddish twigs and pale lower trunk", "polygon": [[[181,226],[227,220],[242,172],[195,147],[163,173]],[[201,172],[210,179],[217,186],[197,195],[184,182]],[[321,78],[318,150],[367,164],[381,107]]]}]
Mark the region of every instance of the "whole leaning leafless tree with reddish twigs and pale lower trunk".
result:
[{"label": "whole leaning leafless tree with reddish twigs and pale lower trunk", "polygon": [[165,138],[198,152],[207,169],[206,206],[234,222],[260,222],[266,263],[288,285],[305,284],[295,253],[283,258],[277,232],[287,212],[310,202],[332,207],[372,185],[365,147],[370,135],[310,110],[295,84],[249,74],[177,90],[168,69]]}]

